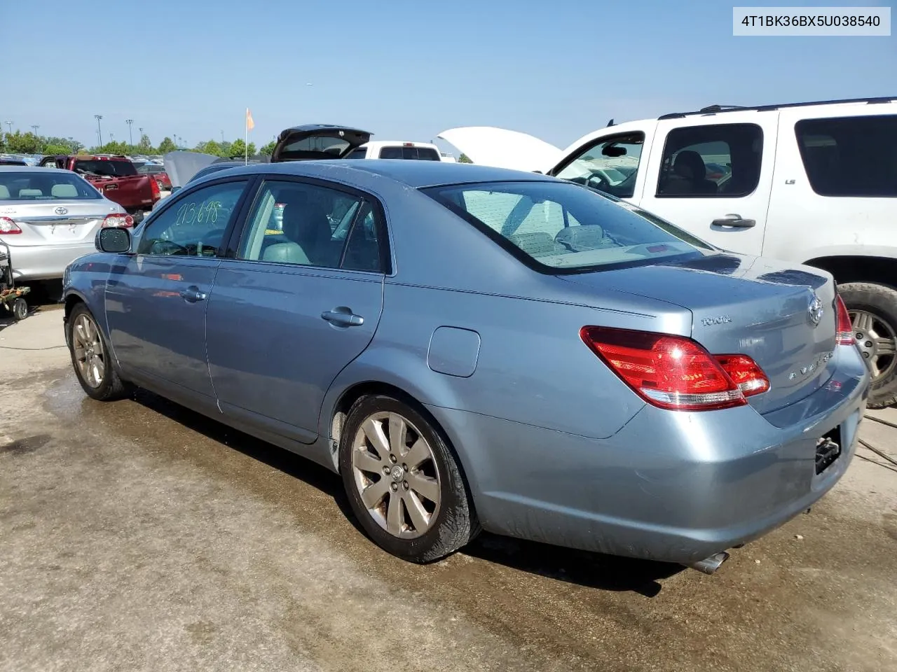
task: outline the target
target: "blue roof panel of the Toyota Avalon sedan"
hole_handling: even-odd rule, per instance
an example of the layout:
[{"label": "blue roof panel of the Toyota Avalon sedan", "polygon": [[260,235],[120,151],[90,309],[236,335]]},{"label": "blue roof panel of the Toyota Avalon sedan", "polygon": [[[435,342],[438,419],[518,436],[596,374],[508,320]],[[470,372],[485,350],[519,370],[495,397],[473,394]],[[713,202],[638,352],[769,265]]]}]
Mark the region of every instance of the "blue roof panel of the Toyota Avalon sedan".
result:
[{"label": "blue roof panel of the Toyota Avalon sedan", "polygon": [[[453,163],[448,161],[405,161],[401,159],[367,159],[350,161],[347,159],[327,159],[311,161],[283,161],[283,163],[262,163],[239,168],[230,168],[230,175],[241,173],[283,173],[301,177],[333,178],[372,187],[378,177],[408,185],[414,188],[438,185],[460,185],[477,182],[560,182],[555,177],[540,173],[527,173],[508,168],[492,168],[476,164]],[[222,177],[217,174],[215,177]],[[205,177],[204,177],[205,179]]]}]

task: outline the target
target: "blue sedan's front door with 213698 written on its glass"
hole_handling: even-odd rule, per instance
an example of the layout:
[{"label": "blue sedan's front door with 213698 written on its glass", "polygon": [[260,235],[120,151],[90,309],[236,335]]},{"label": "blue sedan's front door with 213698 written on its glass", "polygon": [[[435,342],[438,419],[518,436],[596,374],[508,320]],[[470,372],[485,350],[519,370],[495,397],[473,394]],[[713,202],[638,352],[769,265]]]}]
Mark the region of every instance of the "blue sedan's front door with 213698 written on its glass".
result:
[{"label": "blue sedan's front door with 213698 written on its glass", "polygon": [[[126,375],[173,396],[213,398],[205,358],[205,311],[219,248],[247,192],[247,177],[170,197],[135,236],[135,254],[109,275],[109,339]],[[163,391],[160,390],[160,391]]]}]

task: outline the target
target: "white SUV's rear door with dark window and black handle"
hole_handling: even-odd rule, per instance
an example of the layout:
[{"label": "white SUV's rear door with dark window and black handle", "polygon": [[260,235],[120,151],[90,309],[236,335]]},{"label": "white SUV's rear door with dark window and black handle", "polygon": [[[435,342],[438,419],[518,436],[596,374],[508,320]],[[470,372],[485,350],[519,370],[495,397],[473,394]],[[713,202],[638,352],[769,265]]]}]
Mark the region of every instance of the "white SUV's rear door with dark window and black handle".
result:
[{"label": "white SUV's rear door with dark window and black handle", "polygon": [[761,254],[778,115],[661,119],[638,204],[715,246]]}]

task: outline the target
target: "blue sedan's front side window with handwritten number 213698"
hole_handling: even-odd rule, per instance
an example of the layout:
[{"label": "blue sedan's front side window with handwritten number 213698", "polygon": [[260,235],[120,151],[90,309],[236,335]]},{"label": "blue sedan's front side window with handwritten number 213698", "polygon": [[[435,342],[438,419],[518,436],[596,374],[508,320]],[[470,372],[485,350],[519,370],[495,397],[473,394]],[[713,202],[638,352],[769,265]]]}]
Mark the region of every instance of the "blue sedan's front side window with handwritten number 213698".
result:
[{"label": "blue sedan's front side window with handwritten number 213698", "polygon": [[224,182],[179,197],[147,224],[137,254],[215,256],[247,184]]}]

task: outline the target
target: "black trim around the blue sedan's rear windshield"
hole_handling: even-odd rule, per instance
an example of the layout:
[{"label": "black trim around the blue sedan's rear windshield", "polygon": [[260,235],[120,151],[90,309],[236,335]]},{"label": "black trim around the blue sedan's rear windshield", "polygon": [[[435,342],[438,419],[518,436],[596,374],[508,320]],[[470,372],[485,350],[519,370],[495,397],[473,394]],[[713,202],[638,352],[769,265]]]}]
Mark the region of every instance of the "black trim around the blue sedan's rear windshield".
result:
[{"label": "black trim around the blue sedan's rear windshield", "polygon": [[[550,179],[550,180],[527,180],[527,182],[550,182],[550,183],[555,182],[555,181],[561,182],[562,184],[577,186],[580,189],[588,189],[588,191],[592,192],[593,194],[597,194],[598,196],[605,198],[608,201],[614,202],[614,205],[616,205],[617,201],[623,201],[622,198],[620,198],[619,196],[614,196],[614,194],[605,194],[604,192],[599,191],[598,189],[596,189],[594,187],[587,186],[587,185],[580,185],[577,182],[570,182],[569,180],[564,180],[560,177],[554,177],[553,179]],[[498,246],[500,246],[501,249],[503,249],[505,252],[507,252],[508,254],[513,256],[515,259],[518,260],[518,262],[522,263],[529,270],[536,271],[537,273],[540,273],[541,275],[580,275],[582,273],[597,273],[597,272],[601,272],[601,271],[619,271],[621,269],[637,268],[639,266],[652,266],[652,265],[656,265],[658,263],[657,259],[643,259],[640,261],[599,263],[599,264],[593,264],[591,266],[577,266],[577,267],[571,267],[571,268],[564,268],[564,267],[559,268],[557,266],[549,266],[545,263],[536,261],[536,259],[534,257],[530,256],[529,254],[527,254],[526,252],[521,250],[518,246],[511,243],[508,240],[508,238],[502,236],[501,233],[496,231],[494,228],[490,227],[488,224],[486,224],[482,220],[478,220],[477,218],[474,217],[474,215],[470,214],[470,212],[457,207],[457,205],[455,205],[455,203],[442,198],[440,196],[440,194],[437,193],[439,190],[451,188],[451,187],[475,187],[475,186],[479,186],[479,185],[518,184],[519,182],[520,182],[519,180],[517,180],[517,181],[516,180],[498,180],[498,181],[492,180],[489,182],[460,182],[457,184],[431,185],[431,186],[419,187],[418,191],[420,191],[422,194],[429,196],[433,201],[439,203],[442,207],[444,207],[446,210],[452,212],[453,214],[456,214],[462,220],[465,220],[468,224],[470,224],[472,227],[474,227],[477,231],[482,233],[483,236],[490,238]],[[623,207],[623,206],[617,205],[616,207]],[[641,217],[641,215],[638,212],[635,212],[635,211],[631,211],[631,212],[636,217]],[[651,213],[651,214],[653,215],[654,213]],[[654,216],[658,217],[657,215],[654,215]],[[642,218],[642,219],[647,220],[649,222],[649,224],[651,224],[651,226],[654,226],[654,227],[658,226],[657,224],[655,224],[653,221],[649,220],[648,218]],[[658,217],[658,219],[662,219],[662,218]],[[673,226],[675,227],[675,225],[673,225]],[[658,227],[658,228],[660,228],[660,227]],[[675,228],[679,228],[679,227],[675,227]],[[687,241],[683,241],[683,242],[687,243]],[[691,245],[691,243],[687,243],[687,244]],[[716,252],[716,248],[713,249],[713,252],[714,253]],[[672,254],[670,256],[664,257],[664,263],[675,263],[678,261],[687,261],[688,259],[693,258],[694,254],[703,254],[703,253],[701,252],[701,250],[695,249],[695,251],[693,253]]]}]

